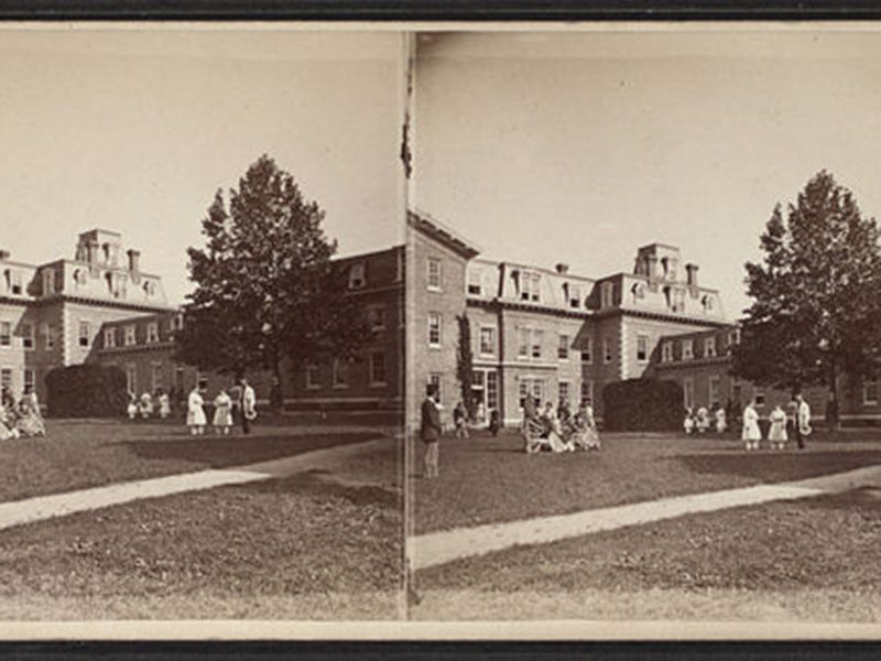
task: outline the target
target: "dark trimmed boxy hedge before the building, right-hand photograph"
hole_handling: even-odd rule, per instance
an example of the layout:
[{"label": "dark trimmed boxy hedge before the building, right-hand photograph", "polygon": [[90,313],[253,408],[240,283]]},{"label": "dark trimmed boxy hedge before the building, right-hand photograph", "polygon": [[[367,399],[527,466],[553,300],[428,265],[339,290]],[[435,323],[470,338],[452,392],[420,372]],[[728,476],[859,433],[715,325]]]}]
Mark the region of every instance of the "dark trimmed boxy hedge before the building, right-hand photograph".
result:
[{"label": "dark trimmed boxy hedge before the building, right-hand photograph", "polygon": [[676,381],[629,379],[602,389],[602,429],[675,432],[682,429],[683,391]]}]

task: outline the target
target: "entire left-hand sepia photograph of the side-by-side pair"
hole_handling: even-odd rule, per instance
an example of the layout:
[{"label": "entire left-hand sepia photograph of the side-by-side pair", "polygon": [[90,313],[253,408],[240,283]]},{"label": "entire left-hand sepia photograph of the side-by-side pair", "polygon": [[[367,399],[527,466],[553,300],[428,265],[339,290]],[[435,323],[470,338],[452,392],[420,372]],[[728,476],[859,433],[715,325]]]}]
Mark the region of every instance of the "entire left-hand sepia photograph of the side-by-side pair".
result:
[{"label": "entire left-hand sepia photograph of the side-by-side pair", "polygon": [[0,618],[402,616],[403,45],[0,31]]}]

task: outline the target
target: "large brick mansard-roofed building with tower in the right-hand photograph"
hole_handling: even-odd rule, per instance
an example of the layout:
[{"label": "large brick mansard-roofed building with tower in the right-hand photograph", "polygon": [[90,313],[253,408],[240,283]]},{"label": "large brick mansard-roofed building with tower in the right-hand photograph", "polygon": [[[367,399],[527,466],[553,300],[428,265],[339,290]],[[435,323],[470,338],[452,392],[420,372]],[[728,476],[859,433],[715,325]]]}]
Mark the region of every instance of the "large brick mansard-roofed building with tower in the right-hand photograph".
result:
[{"label": "large brick mansard-roofed building with tower in the right-hand photograph", "polygon": [[[415,424],[425,384],[434,382],[449,424],[461,401],[457,376],[461,319],[472,354],[471,397],[486,416],[496,409],[505,424],[521,420],[529,393],[542,401],[590,401],[602,416],[602,389],[614,381],[655,377],[677,381],[684,405],[785,403],[791,393],[738,381],[730,349],[738,342],[715,289],[698,281],[673,246],[637,251],[632,271],[595,278],[479,259],[479,250],[424,213],[409,215],[412,248],[410,305],[413,334],[409,397]],[[879,412],[877,386],[848,390],[845,419]],[[826,391],[807,393],[816,414]]]}]

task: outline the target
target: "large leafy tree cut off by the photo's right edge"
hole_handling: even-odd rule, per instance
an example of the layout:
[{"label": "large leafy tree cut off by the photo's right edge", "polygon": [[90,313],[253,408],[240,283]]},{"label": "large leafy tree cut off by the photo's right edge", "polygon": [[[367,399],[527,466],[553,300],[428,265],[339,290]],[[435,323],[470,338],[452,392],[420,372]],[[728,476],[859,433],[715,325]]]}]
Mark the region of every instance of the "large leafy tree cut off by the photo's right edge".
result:
[{"label": "large leafy tree cut off by the photo's right edge", "polygon": [[[826,171],[788,206],[777,205],[747,263],[747,310],[733,372],[798,390],[829,388],[839,410],[844,378],[873,377],[881,354],[879,229]],[[834,420],[837,423],[837,420]]]}]

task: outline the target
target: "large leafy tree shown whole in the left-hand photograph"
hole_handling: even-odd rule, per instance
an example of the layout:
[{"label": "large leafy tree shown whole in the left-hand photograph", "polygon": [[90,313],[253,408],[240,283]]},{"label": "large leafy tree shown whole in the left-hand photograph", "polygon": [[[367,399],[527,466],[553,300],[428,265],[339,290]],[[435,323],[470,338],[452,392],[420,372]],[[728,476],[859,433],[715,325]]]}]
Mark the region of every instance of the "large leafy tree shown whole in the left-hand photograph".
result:
[{"label": "large leafy tree shown whole in the left-hand photograph", "polygon": [[204,248],[189,248],[196,284],[175,335],[177,356],[221,373],[271,371],[281,397],[281,366],[294,372],[330,357],[350,359],[369,336],[331,257],[324,212],[293,176],[261,156],[229,203],[218,191],[202,221]]}]

